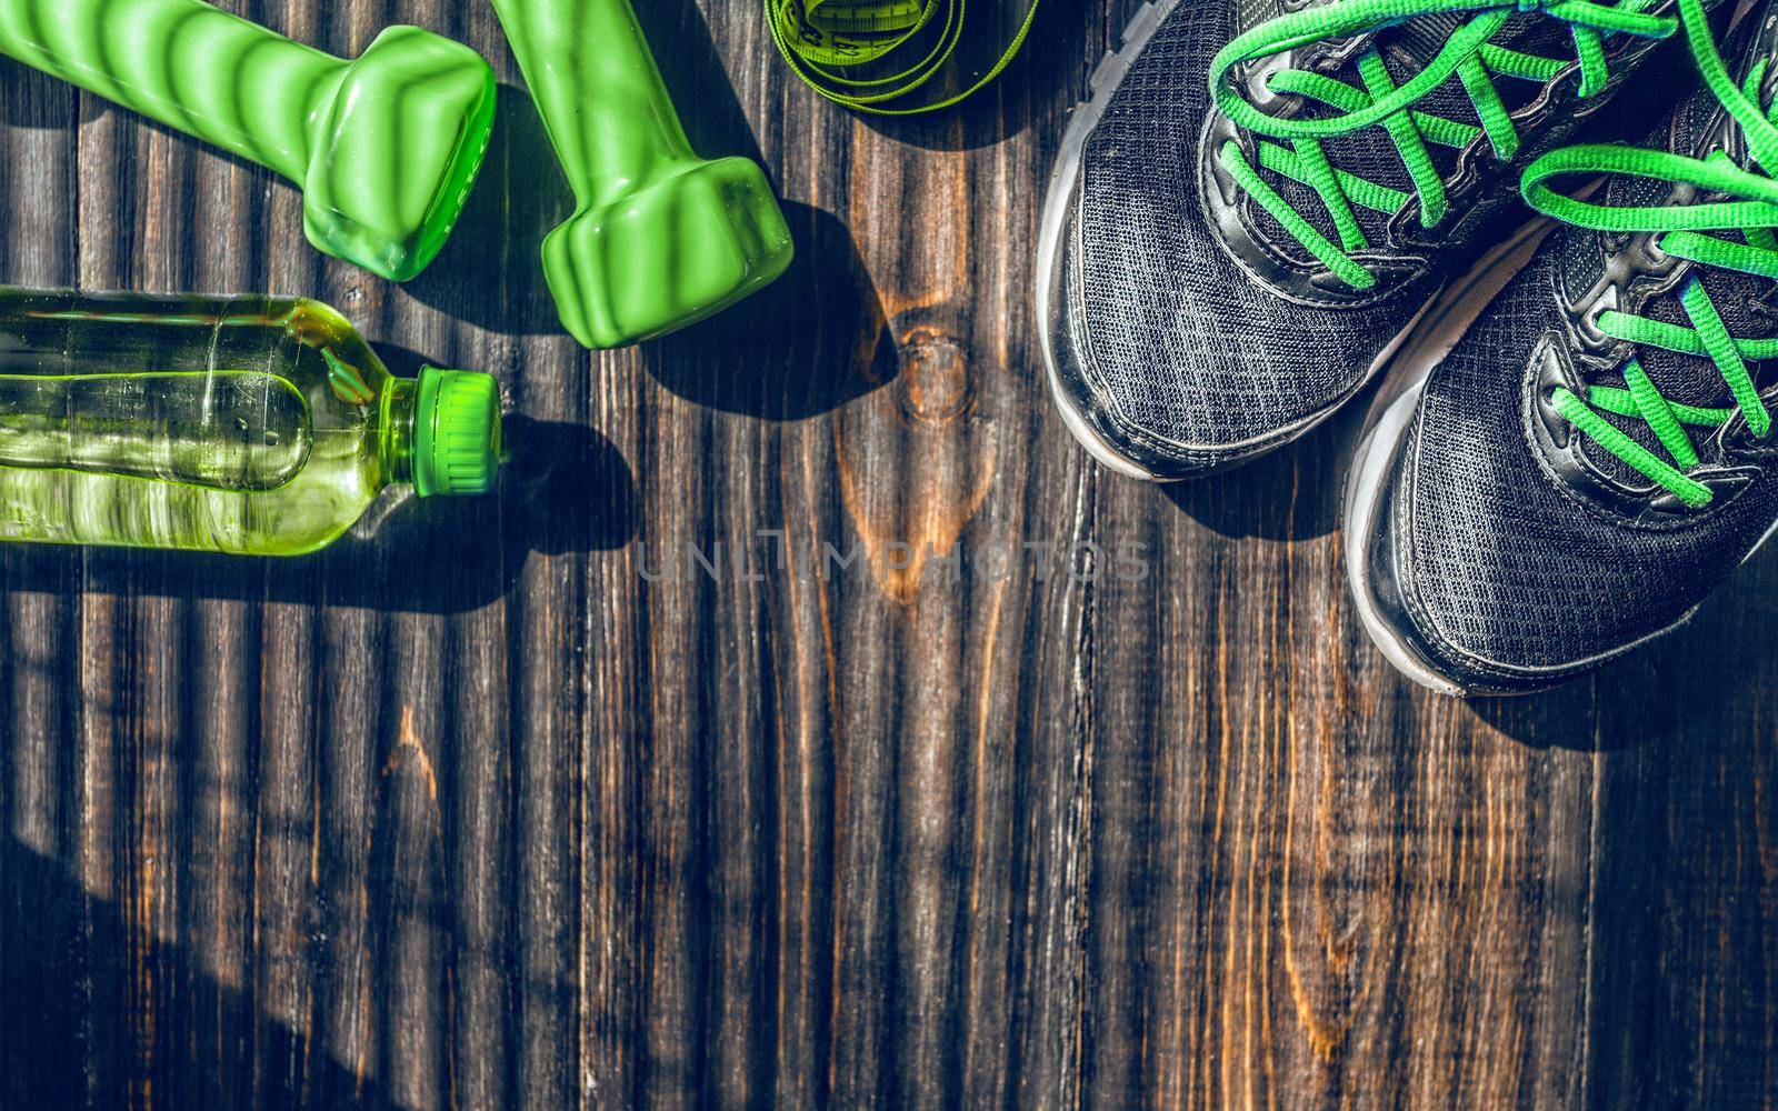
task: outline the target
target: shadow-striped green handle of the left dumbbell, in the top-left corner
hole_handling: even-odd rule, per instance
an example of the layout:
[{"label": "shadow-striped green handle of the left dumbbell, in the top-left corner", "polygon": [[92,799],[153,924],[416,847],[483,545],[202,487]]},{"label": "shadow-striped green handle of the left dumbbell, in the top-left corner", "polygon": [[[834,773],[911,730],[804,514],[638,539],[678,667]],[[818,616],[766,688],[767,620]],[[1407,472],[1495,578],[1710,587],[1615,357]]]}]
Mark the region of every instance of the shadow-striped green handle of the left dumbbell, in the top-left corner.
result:
[{"label": "shadow-striped green handle of the left dumbbell, in the top-left corner", "polygon": [[0,0],[0,53],[299,185],[347,71],[201,0]]}]

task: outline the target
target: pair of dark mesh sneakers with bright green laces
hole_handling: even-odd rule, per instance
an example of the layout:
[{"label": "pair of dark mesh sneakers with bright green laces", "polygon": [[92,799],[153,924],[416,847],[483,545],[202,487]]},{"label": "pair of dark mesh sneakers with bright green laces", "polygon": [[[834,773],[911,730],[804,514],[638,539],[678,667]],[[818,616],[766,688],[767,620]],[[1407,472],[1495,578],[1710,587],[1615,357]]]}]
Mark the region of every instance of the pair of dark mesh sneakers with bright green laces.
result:
[{"label": "pair of dark mesh sneakers with bright green laces", "polygon": [[1410,677],[1550,686],[1778,526],[1778,0],[1161,0],[1092,87],[1038,256],[1069,428],[1189,478],[1389,366],[1346,569]]}]

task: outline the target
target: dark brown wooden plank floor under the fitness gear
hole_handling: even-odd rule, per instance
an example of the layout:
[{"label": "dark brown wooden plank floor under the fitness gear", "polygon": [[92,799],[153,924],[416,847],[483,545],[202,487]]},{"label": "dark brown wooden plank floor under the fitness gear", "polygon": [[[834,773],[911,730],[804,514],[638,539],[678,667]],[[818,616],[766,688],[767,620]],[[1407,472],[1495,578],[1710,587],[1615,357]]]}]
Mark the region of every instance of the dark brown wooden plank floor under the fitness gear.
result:
[{"label": "dark brown wooden plank floor under the fitness gear", "polygon": [[[322,558],[0,556],[0,1106],[1778,1100],[1778,556],[1593,681],[1465,706],[1342,594],[1355,418],[1177,491],[1092,466],[1029,258],[1127,2],[1045,0],[914,124],[788,80],[752,0],[642,4],[800,260],[606,356],[557,331],[565,192],[480,0],[226,4],[501,73],[409,286],[0,66],[0,279],[318,295],[523,414],[500,498]],[[1149,574],[1081,581],[1085,542]]]}]

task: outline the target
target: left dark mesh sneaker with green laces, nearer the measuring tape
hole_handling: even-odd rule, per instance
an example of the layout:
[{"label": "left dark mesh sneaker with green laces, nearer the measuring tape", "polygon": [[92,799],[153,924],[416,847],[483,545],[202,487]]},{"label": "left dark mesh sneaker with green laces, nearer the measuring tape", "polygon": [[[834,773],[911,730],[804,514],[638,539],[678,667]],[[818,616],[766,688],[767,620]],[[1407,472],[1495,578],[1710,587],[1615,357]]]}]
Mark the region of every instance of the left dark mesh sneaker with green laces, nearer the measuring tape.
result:
[{"label": "left dark mesh sneaker with green laces, nearer the measuring tape", "polygon": [[1613,101],[1670,11],[1145,4],[1044,212],[1037,311],[1070,430],[1111,469],[1184,478],[1328,418],[1518,229],[1520,171]]}]

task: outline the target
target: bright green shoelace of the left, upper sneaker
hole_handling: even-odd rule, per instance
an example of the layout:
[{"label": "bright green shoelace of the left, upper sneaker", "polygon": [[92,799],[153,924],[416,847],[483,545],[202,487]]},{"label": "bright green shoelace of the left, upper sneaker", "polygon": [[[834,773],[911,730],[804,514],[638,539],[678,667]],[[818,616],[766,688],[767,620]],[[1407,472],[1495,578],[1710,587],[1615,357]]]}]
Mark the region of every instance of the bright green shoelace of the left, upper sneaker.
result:
[{"label": "bright green shoelace of the left, upper sneaker", "polygon": [[[1211,96],[1216,107],[1237,126],[1268,139],[1289,140],[1259,144],[1259,165],[1300,181],[1319,196],[1328,219],[1339,235],[1339,244],[1321,235],[1259,174],[1239,144],[1223,144],[1218,160],[1278,224],[1289,231],[1305,251],[1355,290],[1369,290],[1376,276],[1351,256],[1369,247],[1353,206],[1385,215],[1398,215],[1419,197],[1421,224],[1437,226],[1449,212],[1444,180],[1426,149],[1428,142],[1447,148],[1467,148],[1481,135],[1488,137],[1495,158],[1511,160],[1518,153],[1520,137],[1511,114],[1495,87],[1497,78],[1550,82],[1565,69],[1579,64],[1581,96],[1600,92],[1609,73],[1602,36],[1630,34],[1662,39],[1678,28],[1664,16],[1650,16],[1641,9],[1652,0],[1623,0],[1616,5],[1591,0],[1334,0],[1332,4],[1289,12],[1253,27],[1229,43],[1211,60]],[[1543,12],[1572,27],[1575,59],[1549,59],[1497,46],[1490,39],[1501,34],[1506,21],[1520,11]],[[1261,112],[1236,89],[1230,71],[1246,62],[1275,57],[1287,50],[1326,39],[1344,39],[1382,30],[1421,16],[1476,12],[1460,27],[1426,68],[1403,84],[1396,84],[1383,57],[1371,50],[1358,57],[1358,76],[1364,87],[1310,73],[1280,69],[1268,78],[1273,92],[1317,101],[1337,114],[1321,119],[1291,119]],[[1438,85],[1456,76],[1481,124],[1444,119],[1419,112],[1414,105]],[[1334,167],[1323,149],[1323,140],[1348,135],[1360,128],[1382,126],[1406,165],[1414,194],[1367,181]]]}]

